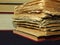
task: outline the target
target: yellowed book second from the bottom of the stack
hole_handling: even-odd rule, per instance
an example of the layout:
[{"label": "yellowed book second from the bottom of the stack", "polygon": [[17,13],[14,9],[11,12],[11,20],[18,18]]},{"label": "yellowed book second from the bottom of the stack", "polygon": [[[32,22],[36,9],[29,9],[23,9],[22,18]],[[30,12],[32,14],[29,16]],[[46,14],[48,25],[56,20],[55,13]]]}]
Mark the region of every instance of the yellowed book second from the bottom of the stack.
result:
[{"label": "yellowed book second from the bottom of the stack", "polygon": [[50,36],[50,35],[60,35],[60,31],[40,31],[40,30],[35,30],[35,29],[27,29],[27,28],[23,28],[23,27],[17,27],[16,30],[35,35],[37,37]]}]

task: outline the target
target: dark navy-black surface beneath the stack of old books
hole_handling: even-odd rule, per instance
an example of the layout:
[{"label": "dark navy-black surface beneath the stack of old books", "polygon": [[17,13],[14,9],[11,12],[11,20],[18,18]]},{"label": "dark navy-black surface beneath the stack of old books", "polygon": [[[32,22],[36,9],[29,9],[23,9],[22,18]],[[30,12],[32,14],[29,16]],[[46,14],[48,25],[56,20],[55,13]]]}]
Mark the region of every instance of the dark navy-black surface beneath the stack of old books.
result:
[{"label": "dark navy-black surface beneath the stack of old books", "polygon": [[0,45],[60,45],[60,41],[34,42],[12,31],[0,31]]}]

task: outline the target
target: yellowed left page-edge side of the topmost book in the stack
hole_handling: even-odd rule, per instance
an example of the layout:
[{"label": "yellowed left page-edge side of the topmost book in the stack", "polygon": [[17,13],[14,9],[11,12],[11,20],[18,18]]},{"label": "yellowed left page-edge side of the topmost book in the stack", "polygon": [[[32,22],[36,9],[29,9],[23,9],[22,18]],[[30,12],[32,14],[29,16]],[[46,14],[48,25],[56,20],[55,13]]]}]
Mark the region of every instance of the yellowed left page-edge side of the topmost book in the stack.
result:
[{"label": "yellowed left page-edge side of the topmost book in the stack", "polygon": [[43,5],[44,2],[42,0],[34,0],[24,3],[23,5],[15,7],[15,15],[24,13],[41,13],[43,10]]}]

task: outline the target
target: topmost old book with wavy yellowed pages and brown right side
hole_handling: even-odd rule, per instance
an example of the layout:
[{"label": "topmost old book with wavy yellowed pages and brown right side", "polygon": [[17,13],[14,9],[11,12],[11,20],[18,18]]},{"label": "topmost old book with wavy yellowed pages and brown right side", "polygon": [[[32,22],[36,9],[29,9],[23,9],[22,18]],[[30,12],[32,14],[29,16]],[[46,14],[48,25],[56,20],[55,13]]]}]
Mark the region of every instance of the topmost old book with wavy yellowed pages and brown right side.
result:
[{"label": "topmost old book with wavy yellowed pages and brown right side", "polygon": [[[33,0],[15,8],[15,14],[20,13],[49,13],[52,15],[60,15],[60,0]],[[31,11],[31,12],[30,12]]]}]

